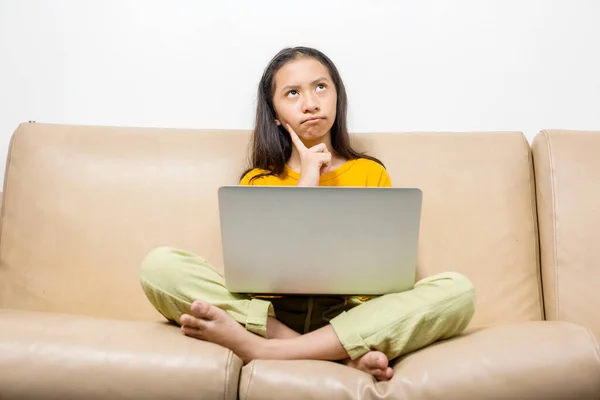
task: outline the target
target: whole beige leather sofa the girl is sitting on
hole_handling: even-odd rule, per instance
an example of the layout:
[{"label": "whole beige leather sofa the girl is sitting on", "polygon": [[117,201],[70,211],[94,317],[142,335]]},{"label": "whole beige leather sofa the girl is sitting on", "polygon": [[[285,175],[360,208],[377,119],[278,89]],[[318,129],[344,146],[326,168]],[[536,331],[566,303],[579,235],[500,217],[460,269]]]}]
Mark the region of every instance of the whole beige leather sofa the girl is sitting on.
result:
[{"label": "whole beige leather sofa the girl is sitting on", "polygon": [[464,335],[394,363],[259,360],[163,322],[139,284],[170,245],[221,266],[216,190],[249,132],[26,123],[6,164],[0,398],[600,399],[600,132],[356,135],[422,188],[420,277],[477,288]]}]

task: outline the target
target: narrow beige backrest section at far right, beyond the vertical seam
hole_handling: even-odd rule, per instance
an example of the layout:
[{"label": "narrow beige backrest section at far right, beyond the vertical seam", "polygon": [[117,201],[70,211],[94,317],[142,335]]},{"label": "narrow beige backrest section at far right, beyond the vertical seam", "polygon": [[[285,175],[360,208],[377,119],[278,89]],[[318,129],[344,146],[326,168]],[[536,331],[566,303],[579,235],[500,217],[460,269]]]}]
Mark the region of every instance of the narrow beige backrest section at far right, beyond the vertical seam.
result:
[{"label": "narrow beige backrest section at far right, beyond the vertical seam", "polygon": [[600,131],[534,139],[546,318],[600,337]]}]

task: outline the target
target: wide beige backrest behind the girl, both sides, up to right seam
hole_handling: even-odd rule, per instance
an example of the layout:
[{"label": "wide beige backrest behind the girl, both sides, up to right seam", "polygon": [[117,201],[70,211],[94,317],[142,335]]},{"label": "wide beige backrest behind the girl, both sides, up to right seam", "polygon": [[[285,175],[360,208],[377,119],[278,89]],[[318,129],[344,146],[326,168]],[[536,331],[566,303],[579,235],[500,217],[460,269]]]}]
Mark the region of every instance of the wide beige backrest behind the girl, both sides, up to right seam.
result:
[{"label": "wide beige backrest behind the girl, both sides, up to right seam", "polygon": [[[423,190],[418,278],[468,276],[475,326],[542,319],[521,133],[353,137],[394,186]],[[160,319],[140,288],[140,261],[166,245],[222,270],[217,188],[237,184],[248,142],[247,131],[21,125],[7,164],[0,306]]]}]

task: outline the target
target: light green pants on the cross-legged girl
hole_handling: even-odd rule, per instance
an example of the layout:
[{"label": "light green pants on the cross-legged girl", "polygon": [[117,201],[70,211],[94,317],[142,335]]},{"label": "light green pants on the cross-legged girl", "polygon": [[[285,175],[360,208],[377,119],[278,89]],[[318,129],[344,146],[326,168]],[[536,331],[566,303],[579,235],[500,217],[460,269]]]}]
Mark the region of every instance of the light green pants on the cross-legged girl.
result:
[{"label": "light green pants on the cross-legged girl", "polygon": [[425,278],[406,292],[368,301],[358,297],[251,298],[230,293],[223,276],[201,257],[160,247],[141,265],[141,284],[169,321],[190,312],[194,300],[223,309],[247,330],[266,337],[267,317],[299,333],[331,324],[352,359],[370,350],[390,360],[461,333],[475,312],[475,291],[464,276],[447,272]]}]

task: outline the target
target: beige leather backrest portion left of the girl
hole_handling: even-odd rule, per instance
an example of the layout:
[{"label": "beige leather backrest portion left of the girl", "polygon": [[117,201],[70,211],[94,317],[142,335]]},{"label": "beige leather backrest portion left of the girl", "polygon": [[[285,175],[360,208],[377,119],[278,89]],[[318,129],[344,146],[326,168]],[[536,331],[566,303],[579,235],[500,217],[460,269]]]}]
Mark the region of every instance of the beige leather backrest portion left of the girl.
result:
[{"label": "beige leather backrest portion left of the girl", "polygon": [[247,132],[22,124],[12,137],[0,307],[162,317],[142,258],[171,245],[221,264],[217,188],[237,182]]}]

